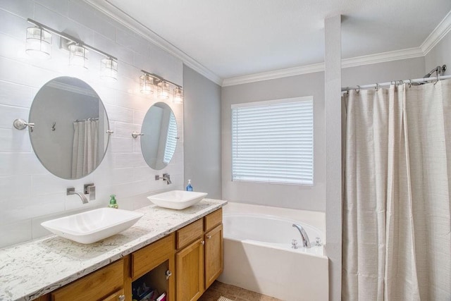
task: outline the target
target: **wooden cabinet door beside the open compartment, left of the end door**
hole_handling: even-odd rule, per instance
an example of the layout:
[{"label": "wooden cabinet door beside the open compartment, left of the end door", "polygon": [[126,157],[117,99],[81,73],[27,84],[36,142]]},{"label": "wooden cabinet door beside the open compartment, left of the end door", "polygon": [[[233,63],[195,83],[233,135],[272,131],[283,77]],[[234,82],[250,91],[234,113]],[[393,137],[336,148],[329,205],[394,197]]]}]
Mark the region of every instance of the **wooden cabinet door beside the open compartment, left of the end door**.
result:
[{"label": "wooden cabinet door beside the open compartment, left of the end door", "polygon": [[197,300],[204,293],[204,240],[198,238],[175,254],[177,301]]}]

